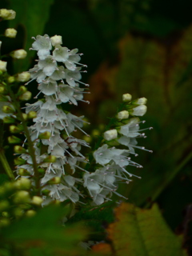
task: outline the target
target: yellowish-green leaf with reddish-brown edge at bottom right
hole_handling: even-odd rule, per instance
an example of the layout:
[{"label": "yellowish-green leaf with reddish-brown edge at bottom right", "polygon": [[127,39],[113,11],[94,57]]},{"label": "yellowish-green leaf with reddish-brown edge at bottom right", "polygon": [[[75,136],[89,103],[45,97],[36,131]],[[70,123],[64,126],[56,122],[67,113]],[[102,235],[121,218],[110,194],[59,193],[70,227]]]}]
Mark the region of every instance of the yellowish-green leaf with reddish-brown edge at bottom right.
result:
[{"label": "yellowish-green leaf with reddish-brown edge at bottom right", "polygon": [[[115,209],[116,222],[107,228],[115,256],[186,256],[158,206],[143,210],[128,203]],[[97,246],[96,246],[97,248]],[[96,249],[94,248],[94,250]]]}]

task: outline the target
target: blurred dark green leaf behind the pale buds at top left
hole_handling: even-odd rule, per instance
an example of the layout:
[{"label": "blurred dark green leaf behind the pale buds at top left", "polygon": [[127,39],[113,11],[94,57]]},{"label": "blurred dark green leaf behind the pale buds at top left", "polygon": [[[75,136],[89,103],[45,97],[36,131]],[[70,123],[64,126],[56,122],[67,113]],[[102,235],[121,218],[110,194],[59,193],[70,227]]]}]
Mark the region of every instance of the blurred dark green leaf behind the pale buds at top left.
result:
[{"label": "blurred dark green leaf behind the pale buds at top left", "polygon": [[22,72],[29,67],[29,61],[34,57],[36,51],[29,50],[33,40],[38,34],[43,34],[44,27],[49,18],[50,6],[54,0],[10,0],[10,8],[16,11],[16,18],[10,22],[12,27],[23,28],[23,48],[27,51],[24,60],[14,62],[14,71]]}]

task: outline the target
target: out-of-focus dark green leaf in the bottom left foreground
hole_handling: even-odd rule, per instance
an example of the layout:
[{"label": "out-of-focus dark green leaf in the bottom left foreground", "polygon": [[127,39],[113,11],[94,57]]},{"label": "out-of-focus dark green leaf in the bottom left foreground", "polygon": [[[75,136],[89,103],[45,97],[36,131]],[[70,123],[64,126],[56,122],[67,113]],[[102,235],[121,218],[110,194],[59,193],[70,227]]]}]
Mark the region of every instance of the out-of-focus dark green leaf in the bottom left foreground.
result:
[{"label": "out-of-focus dark green leaf in the bottom left foreground", "polygon": [[[68,210],[60,206],[47,206],[32,218],[23,218],[3,230],[6,241],[24,248],[43,248],[43,250],[62,250],[67,254],[79,250],[78,242],[86,238],[82,225],[62,226],[62,218]],[[31,249],[32,250],[32,249]]]}]

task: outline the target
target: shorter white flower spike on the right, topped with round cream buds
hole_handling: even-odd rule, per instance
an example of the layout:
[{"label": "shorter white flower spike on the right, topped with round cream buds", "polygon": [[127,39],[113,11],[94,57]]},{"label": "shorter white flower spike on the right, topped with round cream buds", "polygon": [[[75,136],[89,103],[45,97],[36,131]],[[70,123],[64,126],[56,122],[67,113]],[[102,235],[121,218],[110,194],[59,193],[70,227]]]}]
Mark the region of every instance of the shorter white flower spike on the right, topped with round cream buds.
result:
[{"label": "shorter white flower spike on the right, topped with round cream buds", "polygon": [[[123,94],[122,100],[123,102],[130,102],[131,95]],[[130,102],[128,109],[134,116],[143,115],[145,113],[142,110],[146,112],[145,104],[146,98],[139,98],[137,101]],[[116,191],[118,182],[128,184],[132,176],[138,177],[130,174],[126,170],[126,166],[142,167],[131,160],[130,154],[137,156],[134,151],[135,148],[146,150],[143,146],[137,146],[138,142],[136,140],[139,137],[146,138],[146,135],[142,133],[142,130],[139,130],[139,118],[128,119],[128,117],[129,112],[122,110],[118,113],[118,119],[122,121],[120,125],[118,123],[116,129],[107,130],[104,133],[106,142],[114,142],[115,145],[126,146],[128,149],[119,150],[114,146],[102,145],[94,151],[95,162],[101,167],[94,173],[84,174],[84,186],[89,190],[90,196],[97,205],[110,200],[110,194],[118,194]],[[124,198],[121,194],[118,194],[118,196]]]}]

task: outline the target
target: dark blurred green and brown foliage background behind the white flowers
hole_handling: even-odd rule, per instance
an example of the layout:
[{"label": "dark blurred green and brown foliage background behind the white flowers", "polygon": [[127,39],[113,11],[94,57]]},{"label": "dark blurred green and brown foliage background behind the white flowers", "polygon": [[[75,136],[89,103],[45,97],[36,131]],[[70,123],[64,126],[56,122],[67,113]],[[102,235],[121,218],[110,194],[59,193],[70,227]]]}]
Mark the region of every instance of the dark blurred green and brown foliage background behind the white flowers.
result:
[{"label": "dark blurred green and brown foliage background behind the white flowers", "polygon": [[[88,133],[97,137],[103,132],[116,114],[122,94],[148,99],[142,128],[153,126],[154,130],[146,130],[147,138],[138,139],[138,144],[154,153],[138,152],[136,162],[143,169],[131,171],[142,180],[135,178],[129,186],[121,186],[120,193],[137,206],[158,202],[171,229],[189,236],[192,2],[1,0],[0,8],[17,12],[15,20],[2,22],[1,34],[7,26],[18,30],[17,38],[5,38],[2,54],[18,48],[28,51],[34,42],[31,37],[37,34],[62,35],[63,46],[84,54],[82,63],[88,68],[82,81],[90,84],[91,94],[86,97],[90,105],[82,103],[72,112],[86,116],[91,123],[86,127]],[[29,51],[23,62],[12,62],[10,74],[34,66],[34,54]],[[29,86],[34,93],[35,86]]]}]

